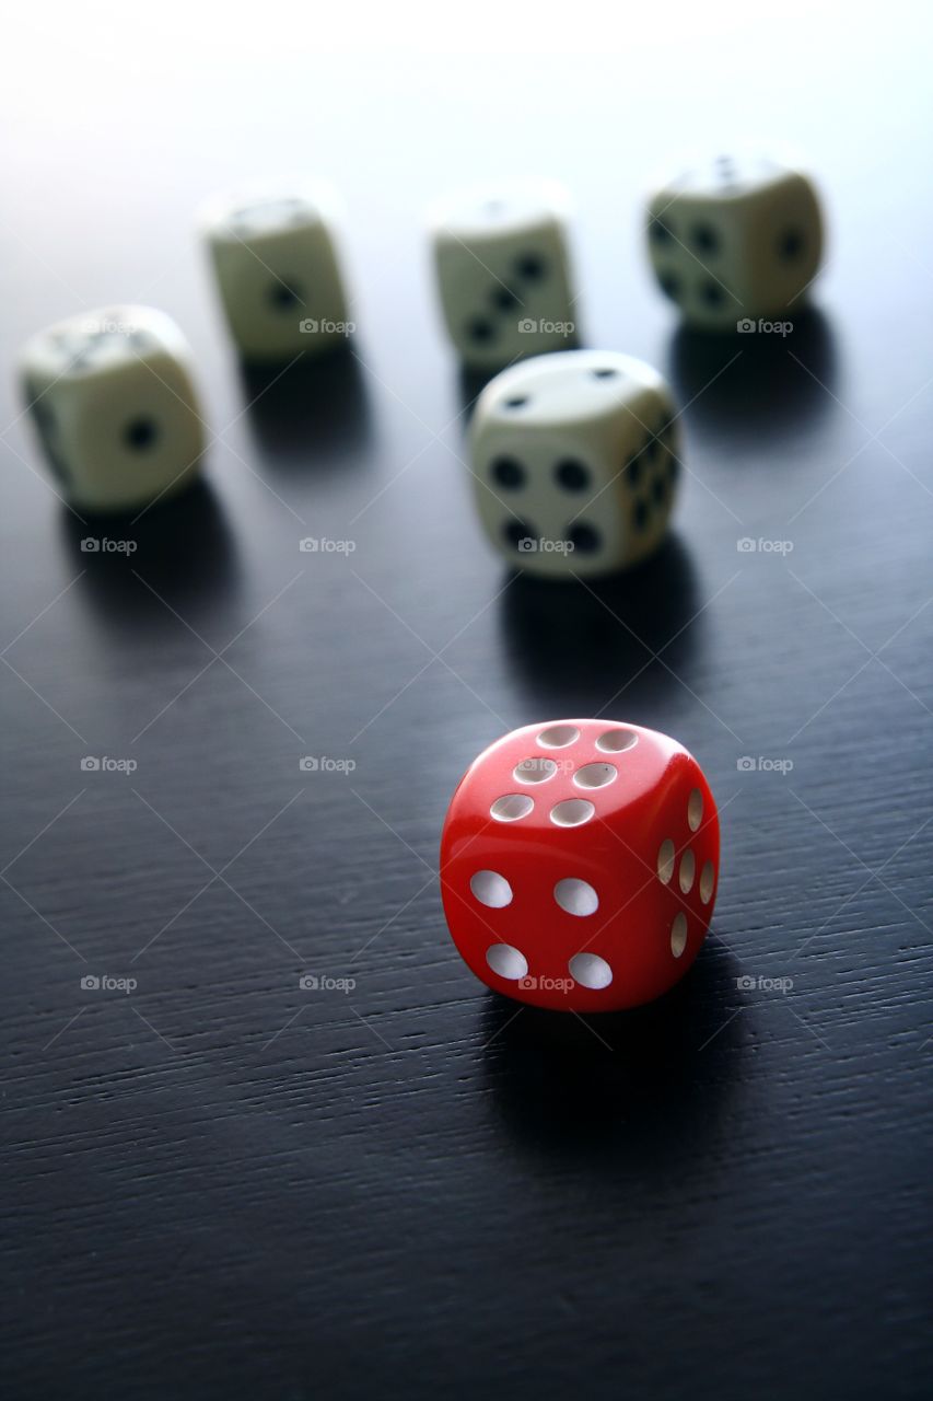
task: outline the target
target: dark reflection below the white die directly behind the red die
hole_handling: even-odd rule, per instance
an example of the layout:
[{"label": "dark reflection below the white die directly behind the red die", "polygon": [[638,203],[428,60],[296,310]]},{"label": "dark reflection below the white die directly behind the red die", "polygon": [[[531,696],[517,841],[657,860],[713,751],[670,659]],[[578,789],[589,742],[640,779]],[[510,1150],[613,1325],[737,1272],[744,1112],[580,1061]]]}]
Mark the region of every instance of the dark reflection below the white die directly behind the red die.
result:
[{"label": "dark reflection below the white die directly behind the red die", "polygon": [[691,556],[671,534],[643,565],[586,584],[520,574],[502,594],[500,626],[535,713],[591,715],[623,691],[657,700],[692,654],[699,609]]}]

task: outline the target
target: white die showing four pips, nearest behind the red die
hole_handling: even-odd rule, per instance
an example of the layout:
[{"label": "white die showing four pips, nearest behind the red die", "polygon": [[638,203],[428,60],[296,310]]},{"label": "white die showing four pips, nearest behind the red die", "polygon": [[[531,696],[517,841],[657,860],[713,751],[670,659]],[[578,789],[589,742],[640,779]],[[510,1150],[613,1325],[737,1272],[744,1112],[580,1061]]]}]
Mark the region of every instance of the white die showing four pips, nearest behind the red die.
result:
[{"label": "white die showing four pips, nearest behind the red die", "polygon": [[481,521],[514,566],[604,574],[664,538],[679,476],[671,392],[615,350],[511,366],[481,394],[471,468]]}]

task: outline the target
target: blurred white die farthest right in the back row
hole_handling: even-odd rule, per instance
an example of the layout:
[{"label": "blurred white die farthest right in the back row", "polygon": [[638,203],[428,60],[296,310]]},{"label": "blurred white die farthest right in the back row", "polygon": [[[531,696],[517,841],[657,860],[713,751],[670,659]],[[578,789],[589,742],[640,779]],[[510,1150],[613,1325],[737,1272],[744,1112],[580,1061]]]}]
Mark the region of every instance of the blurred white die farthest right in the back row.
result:
[{"label": "blurred white die farthest right in the back row", "polygon": [[649,202],[649,254],[682,317],[754,329],[803,296],[820,268],[822,219],[813,184],[768,157],[720,156]]}]

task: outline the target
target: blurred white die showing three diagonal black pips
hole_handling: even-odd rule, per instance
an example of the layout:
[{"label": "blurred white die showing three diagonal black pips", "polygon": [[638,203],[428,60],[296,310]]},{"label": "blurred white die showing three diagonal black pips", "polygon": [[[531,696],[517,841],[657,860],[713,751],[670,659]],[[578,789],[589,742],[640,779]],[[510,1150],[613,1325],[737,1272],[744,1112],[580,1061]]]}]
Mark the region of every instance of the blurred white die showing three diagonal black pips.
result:
[{"label": "blurred white die showing three diagonal black pips", "polygon": [[431,212],[440,301],[466,366],[502,368],[576,338],[566,196],[553,185],[468,191]]}]

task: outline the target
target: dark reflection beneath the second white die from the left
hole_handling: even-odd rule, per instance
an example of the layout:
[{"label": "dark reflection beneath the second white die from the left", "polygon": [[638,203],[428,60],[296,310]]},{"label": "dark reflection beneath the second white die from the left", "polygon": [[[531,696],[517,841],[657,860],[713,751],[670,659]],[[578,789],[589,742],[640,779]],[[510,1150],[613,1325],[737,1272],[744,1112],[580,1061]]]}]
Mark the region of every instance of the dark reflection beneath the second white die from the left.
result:
[{"label": "dark reflection beneath the second white die from the left", "polygon": [[371,439],[371,413],[352,346],[280,364],[242,364],[248,426],[265,465],[315,474],[359,469]]}]

